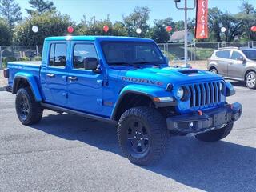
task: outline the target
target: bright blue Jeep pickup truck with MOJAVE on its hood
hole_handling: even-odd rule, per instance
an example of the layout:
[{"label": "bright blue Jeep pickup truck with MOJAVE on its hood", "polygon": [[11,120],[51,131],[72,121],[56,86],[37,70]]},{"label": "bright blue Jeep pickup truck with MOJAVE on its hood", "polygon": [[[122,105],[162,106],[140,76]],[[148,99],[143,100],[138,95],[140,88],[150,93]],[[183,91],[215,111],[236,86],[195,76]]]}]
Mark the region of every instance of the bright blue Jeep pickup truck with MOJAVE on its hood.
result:
[{"label": "bright blue Jeep pickup truck with MOJAVE on its hood", "polygon": [[225,138],[242,114],[226,102],[229,82],[168,66],[146,38],[46,38],[42,62],[9,62],[4,74],[22,124],[38,123],[44,109],[114,123],[122,151],[139,165],[158,160],[170,135]]}]

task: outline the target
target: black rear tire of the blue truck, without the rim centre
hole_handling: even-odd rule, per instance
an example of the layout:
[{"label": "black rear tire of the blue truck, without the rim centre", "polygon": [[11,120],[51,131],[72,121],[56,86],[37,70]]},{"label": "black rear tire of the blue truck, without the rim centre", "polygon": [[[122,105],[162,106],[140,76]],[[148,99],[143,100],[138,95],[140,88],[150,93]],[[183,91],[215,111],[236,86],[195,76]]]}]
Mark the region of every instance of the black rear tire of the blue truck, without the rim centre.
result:
[{"label": "black rear tire of the blue truck, without the rim centre", "polygon": [[[22,99],[26,99],[26,106],[29,109],[27,115],[23,117],[21,112],[21,103],[23,101]],[[16,94],[15,107],[18,119],[20,122],[22,122],[23,125],[32,125],[40,122],[43,108],[39,102],[35,101],[34,95],[32,94],[29,87],[21,88],[18,90]]]}]

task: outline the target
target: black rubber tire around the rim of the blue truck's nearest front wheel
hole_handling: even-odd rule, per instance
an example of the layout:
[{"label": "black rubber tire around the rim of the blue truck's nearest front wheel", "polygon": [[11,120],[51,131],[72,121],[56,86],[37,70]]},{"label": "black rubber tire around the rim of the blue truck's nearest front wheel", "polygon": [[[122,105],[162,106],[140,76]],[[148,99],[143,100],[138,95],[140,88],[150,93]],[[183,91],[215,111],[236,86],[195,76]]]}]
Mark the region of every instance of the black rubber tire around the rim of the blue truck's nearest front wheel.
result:
[{"label": "black rubber tire around the rim of the blue truck's nearest front wheel", "polygon": [[[131,118],[141,121],[146,129],[149,130],[148,136],[150,145],[148,151],[145,154],[139,155],[139,157],[130,153],[129,147],[127,146],[128,134],[127,131],[130,129],[127,127],[127,123]],[[119,119],[118,122],[118,142],[123,153],[126,157],[133,162],[141,166],[146,166],[158,162],[166,152],[166,146],[168,142],[168,131],[166,129],[166,120],[162,114],[154,108],[146,106],[138,106],[126,110]]]}]

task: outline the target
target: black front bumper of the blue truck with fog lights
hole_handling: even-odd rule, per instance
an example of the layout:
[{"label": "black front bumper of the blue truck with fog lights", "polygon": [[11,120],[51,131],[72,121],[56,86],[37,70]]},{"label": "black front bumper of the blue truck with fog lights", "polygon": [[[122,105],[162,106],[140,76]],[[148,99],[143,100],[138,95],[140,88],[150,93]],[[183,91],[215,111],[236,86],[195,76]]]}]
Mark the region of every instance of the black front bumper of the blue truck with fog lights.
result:
[{"label": "black front bumper of the blue truck with fog lights", "polygon": [[242,105],[235,102],[214,110],[204,110],[202,113],[196,112],[167,118],[167,129],[179,134],[198,134],[220,129],[226,124],[237,121],[241,114]]}]

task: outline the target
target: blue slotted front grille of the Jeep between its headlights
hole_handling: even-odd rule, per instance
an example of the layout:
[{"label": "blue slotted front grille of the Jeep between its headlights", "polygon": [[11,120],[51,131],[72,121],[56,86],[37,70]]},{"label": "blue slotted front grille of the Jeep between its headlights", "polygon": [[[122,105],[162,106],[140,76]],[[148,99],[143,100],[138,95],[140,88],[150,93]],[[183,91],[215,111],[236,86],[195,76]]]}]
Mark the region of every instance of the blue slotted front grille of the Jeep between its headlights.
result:
[{"label": "blue slotted front grille of the Jeep between its headlights", "polygon": [[221,102],[221,82],[205,82],[188,86],[190,107],[212,106]]}]

